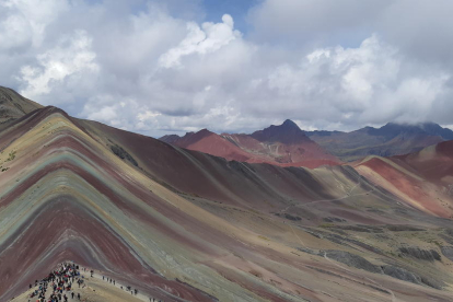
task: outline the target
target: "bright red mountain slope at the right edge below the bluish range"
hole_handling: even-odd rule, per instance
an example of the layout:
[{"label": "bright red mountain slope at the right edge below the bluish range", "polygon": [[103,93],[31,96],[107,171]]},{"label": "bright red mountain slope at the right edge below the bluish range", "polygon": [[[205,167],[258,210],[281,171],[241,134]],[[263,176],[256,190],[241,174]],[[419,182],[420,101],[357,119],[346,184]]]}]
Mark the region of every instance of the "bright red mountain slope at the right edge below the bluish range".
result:
[{"label": "bright red mountain slope at the right edge below the bluish range", "polygon": [[453,217],[453,141],[388,159],[371,156],[356,169],[414,208]]}]

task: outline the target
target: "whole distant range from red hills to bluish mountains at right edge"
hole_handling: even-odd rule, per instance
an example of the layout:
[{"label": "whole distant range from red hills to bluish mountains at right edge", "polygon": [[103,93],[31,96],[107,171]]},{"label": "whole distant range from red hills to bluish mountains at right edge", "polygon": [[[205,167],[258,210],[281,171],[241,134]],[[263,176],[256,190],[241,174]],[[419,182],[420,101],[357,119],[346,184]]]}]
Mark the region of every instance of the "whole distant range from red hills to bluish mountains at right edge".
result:
[{"label": "whole distant range from red hills to bluish mountains at right edge", "polygon": [[453,131],[434,123],[388,123],[381,128],[342,131],[303,131],[287,119],[252,135],[217,135],[207,129],[184,137],[164,136],[162,141],[181,148],[249,163],[317,167],[368,155],[392,156],[417,152],[425,147],[453,140]]}]

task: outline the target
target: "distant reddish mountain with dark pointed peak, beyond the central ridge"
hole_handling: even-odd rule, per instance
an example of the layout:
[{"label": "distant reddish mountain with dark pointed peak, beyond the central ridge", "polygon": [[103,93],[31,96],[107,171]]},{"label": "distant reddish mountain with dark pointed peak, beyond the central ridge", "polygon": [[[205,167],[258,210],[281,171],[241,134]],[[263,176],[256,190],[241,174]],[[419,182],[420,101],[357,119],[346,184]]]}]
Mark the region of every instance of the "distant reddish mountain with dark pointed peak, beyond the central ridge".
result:
[{"label": "distant reddish mountain with dark pointed peak, beyond the central ridge", "polygon": [[252,135],[217,135],[207,129],[161,138],[162,141],[229,161],[270,163],[280,166],[317,167],[336,165],[339,160],[310,139],[298,125],[286,120]]}]

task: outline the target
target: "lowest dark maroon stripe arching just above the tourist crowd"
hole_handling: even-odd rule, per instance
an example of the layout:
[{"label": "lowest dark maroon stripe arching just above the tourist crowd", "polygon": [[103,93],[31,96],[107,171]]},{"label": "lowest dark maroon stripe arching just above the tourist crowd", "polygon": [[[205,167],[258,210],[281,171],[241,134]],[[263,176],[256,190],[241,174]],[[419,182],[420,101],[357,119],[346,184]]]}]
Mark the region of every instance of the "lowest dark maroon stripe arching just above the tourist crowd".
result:
[{"label": "lowest dark maroon stripe arching just above the tourist crowd", "polygon": [[[164,288],[179,298],[210,300],[201,293],[193,292],[190,288],[153,274],[120,235],[95,219],[90,209],[80,207],[80,202],[72,196],[60,195],[50,199],[18,233],[20,235],[9,248],[2,248],[4,252],[0,255],[0,258],[9,259],[8,263],[2,262],[2,270],[7,271],[2,275],[7,278],[1,280],[2,284],[8,284],[8,279],[13,278],[19,280],[15,286],[23,287],[36,276],[36,271],[30,270],[36,263],[74,257],[96,269],[124,276],[141,276],[140,283],[149,282],[156,288]],[[10,290],[13,291],[14,287]]]}]

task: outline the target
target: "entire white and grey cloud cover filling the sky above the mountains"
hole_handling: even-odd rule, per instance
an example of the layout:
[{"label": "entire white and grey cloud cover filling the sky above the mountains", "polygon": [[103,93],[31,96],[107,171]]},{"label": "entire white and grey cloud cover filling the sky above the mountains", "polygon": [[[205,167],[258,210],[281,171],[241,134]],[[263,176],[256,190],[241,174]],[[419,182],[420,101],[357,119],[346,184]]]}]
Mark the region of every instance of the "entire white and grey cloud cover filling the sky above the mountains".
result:
[{"label": "entire white and grey cloud cover filling the sky above the mountains", "polygon": [[[264,0],[246,33],[228,11],[207,21],[201,1],[178,3],[0,0],[1,84],[152,136],[286,118],[306,129],[453,124],[452,31],[434,28],[453,27],[443,0],[431,11],[426,1]],[[408,5],[421,20],[396,26]]]}]

